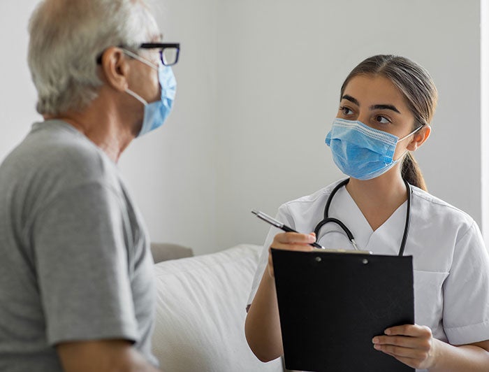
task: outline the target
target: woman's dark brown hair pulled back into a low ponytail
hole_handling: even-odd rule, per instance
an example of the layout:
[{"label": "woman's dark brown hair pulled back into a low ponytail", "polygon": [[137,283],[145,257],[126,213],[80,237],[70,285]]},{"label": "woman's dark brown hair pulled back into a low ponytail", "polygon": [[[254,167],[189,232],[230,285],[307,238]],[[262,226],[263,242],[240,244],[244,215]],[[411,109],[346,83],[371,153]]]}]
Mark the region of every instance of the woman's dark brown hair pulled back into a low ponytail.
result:
[{"label": "woman's dark brown hair pulled back into a low ponytail", "polygon": [[[404,57],[375,55],[356,66],[342,85],[340,97],[349,81],[358,75],[377,75],[388,78],[402,92],[414,115],[414,129],[430,124],[437,107],[438,92],[435,83],[422,66]],[[411,185],[426,190],[425,180],[418,163],[410,152],[404,157],[402,178]]]}]

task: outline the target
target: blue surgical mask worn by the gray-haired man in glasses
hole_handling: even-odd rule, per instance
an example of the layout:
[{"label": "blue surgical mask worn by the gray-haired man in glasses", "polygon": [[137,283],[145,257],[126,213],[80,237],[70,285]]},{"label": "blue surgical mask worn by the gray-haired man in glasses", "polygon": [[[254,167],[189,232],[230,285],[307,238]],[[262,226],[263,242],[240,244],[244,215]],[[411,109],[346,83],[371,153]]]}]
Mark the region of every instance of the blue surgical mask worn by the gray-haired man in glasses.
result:
[{"label": "blue surgical mask worn by the gray-haired man in glasses", "polygon": [[[147,64],[148,66],[151,66],[153,69],[156,69],[153,64],[150,64],[138,55],[135,55],[134,53],[130,53],[129,55],[131,55],[131,57],[139,59],[141,62]],[[143,136],[143,134],[159,128],[161,127],[161,125],[163,125],[166,117],[168,117],[168,115],[170,114],[171,108],[173,106],[173,100],[175,99],[175,93],[177,91],[177,80],[175,80],[173,70],[170,66],[164,66],[161,61],[159,62],[157,69],[158,80],[161,89],[161,98],[158,101],[148,103],[139,94],[136,94],[135,92],[126,89],[127,93],[131,94],[131,96],[133,96],[138,101],[143,103],[143,105],[145,105],[143,126],[138,133],[138,137]]]}]

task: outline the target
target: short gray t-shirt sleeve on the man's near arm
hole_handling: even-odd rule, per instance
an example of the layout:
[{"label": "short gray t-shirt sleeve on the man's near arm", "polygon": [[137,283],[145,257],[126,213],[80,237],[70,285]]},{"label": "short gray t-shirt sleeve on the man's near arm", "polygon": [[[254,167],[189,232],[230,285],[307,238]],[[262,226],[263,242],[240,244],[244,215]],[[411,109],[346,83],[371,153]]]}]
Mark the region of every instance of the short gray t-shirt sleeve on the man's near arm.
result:
[{"label": "short gray t-shirt sleeve on the man's near arm", "polygon": [[64,191],[36,214],[31,243],[50,345],[138,341],[127,226],[122,199],[97,182]]}]

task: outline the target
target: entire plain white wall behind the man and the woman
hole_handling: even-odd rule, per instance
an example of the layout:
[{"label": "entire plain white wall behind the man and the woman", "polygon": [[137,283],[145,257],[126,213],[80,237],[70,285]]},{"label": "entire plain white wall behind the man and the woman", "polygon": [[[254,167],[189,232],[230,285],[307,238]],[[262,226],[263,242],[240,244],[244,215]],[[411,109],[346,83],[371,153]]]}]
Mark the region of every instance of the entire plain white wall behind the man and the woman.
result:
[{"label": "entire plain white wall behind the man and the woman", "polygon": [[[35,3],[0,2],[0,159],[39,117],[26,63]],[[342,80],[377,53],[432,73],[439,108],[417,159],[433,194],[481,222],[479,1],[158,3],[166,40],[182,43],[175,110],[120,162],[152,240],[196,253],[262,243],[252,208],[273,215],[341,176],[324,137]]]}]

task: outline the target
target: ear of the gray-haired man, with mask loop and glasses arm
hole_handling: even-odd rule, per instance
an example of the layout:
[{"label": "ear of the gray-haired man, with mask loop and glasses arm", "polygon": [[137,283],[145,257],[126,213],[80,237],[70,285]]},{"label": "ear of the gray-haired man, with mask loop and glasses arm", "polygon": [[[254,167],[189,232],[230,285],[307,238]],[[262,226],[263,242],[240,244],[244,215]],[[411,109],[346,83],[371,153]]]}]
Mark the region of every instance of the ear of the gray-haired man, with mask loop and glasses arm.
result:
[{"label": "ear of the gray-haired man, with mask loop and glasses arm", "polygon": [[127,75],[129,63],[121,48],[107,48],[102,55],[101,73],[103,80],[115,90],[124,92],[129,86]]}]

